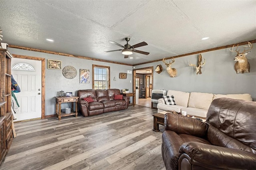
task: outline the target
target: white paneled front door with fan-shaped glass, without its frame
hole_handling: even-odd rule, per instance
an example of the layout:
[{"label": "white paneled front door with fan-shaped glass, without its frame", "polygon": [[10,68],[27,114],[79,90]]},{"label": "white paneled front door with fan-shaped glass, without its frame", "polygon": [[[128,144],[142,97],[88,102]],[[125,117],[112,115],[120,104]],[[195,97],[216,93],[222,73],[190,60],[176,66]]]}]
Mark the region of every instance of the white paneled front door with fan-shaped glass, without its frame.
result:
[{"label": "white paneled front door with fan-shaped glass, without its frame", "polygon": [[[12,76],[18,83],[21,92],[14,93],[20,111],[15,113],[16,120],[22,121],[42,117],[42,62],[30,59],[12,59],[12,68],[18,63],[26,63],[34,68],[34,70],[14,70]],[[25,66],[24,66],[25,68]]]}]

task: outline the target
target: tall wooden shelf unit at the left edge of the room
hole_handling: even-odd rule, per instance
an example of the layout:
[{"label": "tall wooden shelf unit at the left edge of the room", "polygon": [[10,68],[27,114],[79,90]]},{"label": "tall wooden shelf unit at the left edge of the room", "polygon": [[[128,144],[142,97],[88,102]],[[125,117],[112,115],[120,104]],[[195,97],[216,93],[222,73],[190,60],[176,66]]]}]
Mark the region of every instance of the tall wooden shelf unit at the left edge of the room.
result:
[{"label": "tall wooden shelf unit at the left edge of the room", "polygon": [[11,58],[6,49],[0,49],[0,164],[12,144],[11,113]]}]

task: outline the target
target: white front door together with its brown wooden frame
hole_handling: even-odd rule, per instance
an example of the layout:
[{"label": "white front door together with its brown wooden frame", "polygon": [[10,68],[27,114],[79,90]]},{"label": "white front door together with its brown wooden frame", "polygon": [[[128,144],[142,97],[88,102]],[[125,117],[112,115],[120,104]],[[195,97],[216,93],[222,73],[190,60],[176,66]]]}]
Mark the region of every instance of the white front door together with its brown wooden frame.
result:
[{"label": "white front door together with its brown wooden frame", "polygon": [[[20,104],[20,113],[15,114],[17,118],[15,122],[45,118],[45,59],[22,55],[13,56],[12,74],[21,89],[21,92],[15,93]],[[31,66],[34,71],[13,69],[19,63]]]}]

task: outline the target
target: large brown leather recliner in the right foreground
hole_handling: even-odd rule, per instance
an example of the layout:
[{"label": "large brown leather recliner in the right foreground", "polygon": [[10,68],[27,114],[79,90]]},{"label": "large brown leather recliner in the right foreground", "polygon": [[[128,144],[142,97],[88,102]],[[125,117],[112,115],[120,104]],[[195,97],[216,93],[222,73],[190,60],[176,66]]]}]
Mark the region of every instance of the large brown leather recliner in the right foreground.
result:
[{"label": "large brown leather recliner in the right foreground", "polygon": [[215,99],[206,123],[166,113],[164,129],[166,170],[256,170],[256,102]]}]

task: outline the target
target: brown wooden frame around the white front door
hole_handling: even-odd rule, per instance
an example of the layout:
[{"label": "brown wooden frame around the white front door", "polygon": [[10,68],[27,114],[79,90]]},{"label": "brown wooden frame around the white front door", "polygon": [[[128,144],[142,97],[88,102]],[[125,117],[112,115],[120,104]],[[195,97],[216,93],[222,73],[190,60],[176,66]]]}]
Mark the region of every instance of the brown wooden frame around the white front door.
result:
[{"label": "brown wooden frame around the white front door", "polygon": [[[48,116],[45,116],[45,59],[40,58],[40,57],[31,57],[31,56],[25,56],[25,55],[16,55],[12,54],[14,58],[19,58],[19,59],[30,59],[30,60],[38,60],[41,61],[42,63],[42,114],[41,118],[47,118]],[[52,117],[51,115],[49,117]]]}]

